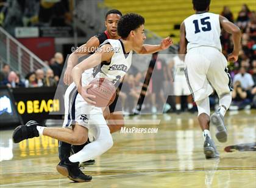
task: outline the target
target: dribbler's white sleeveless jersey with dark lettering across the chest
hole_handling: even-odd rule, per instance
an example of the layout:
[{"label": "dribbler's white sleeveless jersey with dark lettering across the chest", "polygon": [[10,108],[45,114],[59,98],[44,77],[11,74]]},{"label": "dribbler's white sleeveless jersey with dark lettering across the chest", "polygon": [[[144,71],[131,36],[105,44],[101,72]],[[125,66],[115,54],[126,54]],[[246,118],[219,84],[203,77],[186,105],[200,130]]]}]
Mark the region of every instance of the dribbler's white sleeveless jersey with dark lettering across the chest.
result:
[{"label": "dribbler's white sleeveless jersey with dark lettering across the chest", "polygon": [[[112,46],[114,54],[111,61],[103,61],[98,67],[86,70],[84,76],[87,75],[87,80],[93,78],[107,78],[115,84],[120,78],[123,78],[123,76],[126,75],[126,72],[130,69],[130,65],[132,64],[132,50],[125,54],[123,42],[121,40],[107,39],[101,46],[104,44],[110,44]],[[90,78],[88,78],[88,76]]]}]

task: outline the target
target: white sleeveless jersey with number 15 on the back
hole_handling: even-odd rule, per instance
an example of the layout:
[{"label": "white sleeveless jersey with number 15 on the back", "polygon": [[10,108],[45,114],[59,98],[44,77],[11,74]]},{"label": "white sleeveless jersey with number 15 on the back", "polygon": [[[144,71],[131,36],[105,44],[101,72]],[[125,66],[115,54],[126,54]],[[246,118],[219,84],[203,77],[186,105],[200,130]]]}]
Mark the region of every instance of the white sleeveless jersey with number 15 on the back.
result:
[{"label": "white sleeveless jersey with number 15 on the back", "polygon": [[186,38],[188,40],[187,51],[195,47],[215,47],[221,52],[221,26],[219,15],[213,13],[201,13],[191,15],[184,20]]}]

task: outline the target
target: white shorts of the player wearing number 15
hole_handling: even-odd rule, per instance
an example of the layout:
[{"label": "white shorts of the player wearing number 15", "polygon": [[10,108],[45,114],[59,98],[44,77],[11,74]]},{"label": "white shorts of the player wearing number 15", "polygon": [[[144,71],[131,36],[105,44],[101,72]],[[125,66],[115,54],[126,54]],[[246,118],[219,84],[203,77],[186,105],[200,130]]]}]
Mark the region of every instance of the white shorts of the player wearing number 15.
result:
[{"label": "white shorts of the player wearing number 15", "polygon": [[231,79],[227,59],[213,47],[190,49],[185,57],[185,75],[194,101],[207,98],[216,90],[218,96],[230,93]]}]

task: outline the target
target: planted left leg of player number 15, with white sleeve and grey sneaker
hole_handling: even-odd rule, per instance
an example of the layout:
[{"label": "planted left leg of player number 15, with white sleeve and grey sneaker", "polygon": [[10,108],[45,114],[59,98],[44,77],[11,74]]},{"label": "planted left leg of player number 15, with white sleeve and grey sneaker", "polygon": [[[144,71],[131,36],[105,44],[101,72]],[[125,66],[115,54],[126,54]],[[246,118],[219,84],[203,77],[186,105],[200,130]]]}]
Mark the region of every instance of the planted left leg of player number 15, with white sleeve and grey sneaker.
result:
[{"label": "planted left leg of player number 15, with white sleeve and grey sneaker", "polygon": [[210,135],[210,102],[209,98],[196,101],[198,110],[198,121],[204,136],[204,154],[205,158],[218,158],[219,153],[216,150],[215,143]]}]

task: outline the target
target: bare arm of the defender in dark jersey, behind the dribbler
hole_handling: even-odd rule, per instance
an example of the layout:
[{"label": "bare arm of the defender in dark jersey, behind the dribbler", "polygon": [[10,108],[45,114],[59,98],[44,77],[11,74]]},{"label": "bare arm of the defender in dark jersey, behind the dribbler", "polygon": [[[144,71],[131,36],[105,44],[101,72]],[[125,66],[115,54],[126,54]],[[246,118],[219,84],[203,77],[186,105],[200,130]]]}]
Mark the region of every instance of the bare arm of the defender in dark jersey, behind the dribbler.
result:
[{"label": "bare arm of the defender in dark jersey, behind the dribbler", "polygon": [[96,36],[90,38],[86,44],[81,45],[75,52],[71,53],[68,57],[66,70],[64,73],[63,81],[65,84],[71,84],[73,82],[72,69],[77,64],[78,59],[81,56],[91,53],[93,50],[99,47],[99,39]]}]

